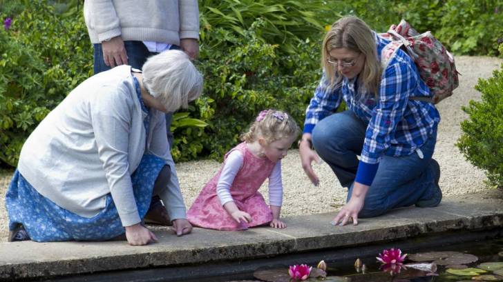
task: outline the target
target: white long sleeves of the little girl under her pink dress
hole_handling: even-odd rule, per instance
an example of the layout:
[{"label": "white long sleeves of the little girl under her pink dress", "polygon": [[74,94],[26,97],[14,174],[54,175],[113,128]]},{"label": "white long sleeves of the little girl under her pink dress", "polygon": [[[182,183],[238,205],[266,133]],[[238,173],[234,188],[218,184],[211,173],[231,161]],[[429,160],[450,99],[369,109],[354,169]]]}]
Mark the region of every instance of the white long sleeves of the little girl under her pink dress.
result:
[{"label": "white long sleeves of the little girl under her pink dress", "polygon": [[[243,153],[239,150],[232,151],[225,159],[224,167],[220,172],[216,185],[216,194],[220,203],[225,205],[229,201],[234,201],[231,196],[231,185],[234,177],[243,165]],[[269,205],[281,207],[283,202],[283,183],[281,181],[281,161],[278,161],[269,175]]]}]

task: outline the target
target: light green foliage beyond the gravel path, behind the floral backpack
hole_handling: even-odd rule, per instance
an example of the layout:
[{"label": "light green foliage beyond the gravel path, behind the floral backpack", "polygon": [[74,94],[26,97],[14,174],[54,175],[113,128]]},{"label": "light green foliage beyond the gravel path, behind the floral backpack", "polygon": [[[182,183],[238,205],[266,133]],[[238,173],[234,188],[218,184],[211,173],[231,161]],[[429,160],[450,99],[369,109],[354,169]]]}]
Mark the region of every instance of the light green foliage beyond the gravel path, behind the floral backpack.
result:
[{"label": "light green foliage beyond the gravel path, behind the floral backpack", "polygon": [[[332,4],[332,6],[334,6]],[[430,30],[455,54],[498,55],[503,34],[501,1],[368,0],[336,1],[341,14],[354,14],[378,32],[406,19],[418,32]]]}]

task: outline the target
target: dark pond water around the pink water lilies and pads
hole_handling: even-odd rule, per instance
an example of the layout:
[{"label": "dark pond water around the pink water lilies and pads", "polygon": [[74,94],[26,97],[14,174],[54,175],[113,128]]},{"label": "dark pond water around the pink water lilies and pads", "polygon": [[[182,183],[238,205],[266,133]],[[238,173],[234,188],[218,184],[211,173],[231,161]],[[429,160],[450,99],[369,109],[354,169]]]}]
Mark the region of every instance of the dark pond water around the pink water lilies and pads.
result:
[{"label": "dark pond water around the pink water lilies and pads", "polygon": [[[400,248],[399,243],[395,248]],[[408,253],[408,250],[402,249],[403,253]],[[354,261],[341,262],[331,262],[325,261],[327,269],[327,277],[325,281],[332,282],[465,282],[465,281],[503,281],[503,238],[475,241],[473,243],[462,243],[457,245],[447,245],[444,247],[433,248],[430,250],[421,250],[421,252],[415,252],[423,254],[424,252],[440,252],[434,253],[438,254],[440,260],[435,263],[437,270],[435,272],[430,272],[426,270],[417,270],[416,268],[401,268],[397,265],[390,267],[390,265],[384,265],[382,267],[381,263],[377,262],[375,256],[379,256],[379,253],[374,256],[361,257],[361,263],[365,264],[365,270],[362,271],[361,268],[355,268]],[[473,255],[473,256],[470,256]],[[424,256],[412,256],[408,255],[408,259],[404,261],[404,265],[410,265],[411,263],[422,263],[422,267],[425,265],[427,268],[431,268],[430,263],[433,259],[426,258],[425,262],[415,262],[411,261],[410,258],[424,259]],[[446,259],[448,258],[448,259]],[[468,258],[468,260],[466,260]],[[323,259],[321,257],[320,259]],[[476,261],[474,261],[476,260]],[[473,261],[473,262],[470,262]],[[494,264],[487,264],[487,262],[501,262]],[[482,263],[485,263],[481,265]],[[450,264],[450,265],[447,265]],[[456,264],[456,265],[453,265]],[[316,265],[311,265],[316,268]],[[459,268],[468,268],[462,271],[455,270]],[[482,269],[482,270],[481,270]],[[484,272],[485,270],[485,272]],[[264,272],[269,273],[269,276],[260,276],[260,279],[250,275],[248,277],[240,277],[240,280],[234,281],[278,281],[278,282],[288,282],[290,281],[288,276],[288,265],[274,265],[273,269],[261,268],[256,274],[263,274]],[[279,274],[278,274],[279,272]],[[362,273],[363,272],[363,273]],[[276,273],[276,276],[274,274]],[[499,274],[499,275],[498,275]],[[265,279],[264,279],[265,277]],[[276,278],[272,278],[276,277]],[[231,281],[226,280],[212,280],[212,281]],[[310,278],[307,281],[323,281],[321,278]]]}]

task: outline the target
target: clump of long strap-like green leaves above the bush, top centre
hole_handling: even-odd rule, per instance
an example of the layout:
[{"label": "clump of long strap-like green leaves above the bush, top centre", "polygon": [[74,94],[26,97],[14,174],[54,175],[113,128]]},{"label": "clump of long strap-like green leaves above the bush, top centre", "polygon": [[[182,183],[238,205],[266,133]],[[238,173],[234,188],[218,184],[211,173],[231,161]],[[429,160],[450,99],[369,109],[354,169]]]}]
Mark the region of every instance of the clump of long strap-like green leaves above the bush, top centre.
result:
[{"label": "clump of long strap-like green leaves above the bush, top centre", "polygon": [[[227,41],[224,34],[208,33],[221,28],[227,35],[245,37],[245,32],[260,19],[256,36],[270,44],[278,44],[284,52],[298,52],[295,48],[308,37],[319,37],[323,26],[341,17],[322,0],[200,0],[201,39],[214,44]],[[323,16],[323,17],[320,17]]]}]

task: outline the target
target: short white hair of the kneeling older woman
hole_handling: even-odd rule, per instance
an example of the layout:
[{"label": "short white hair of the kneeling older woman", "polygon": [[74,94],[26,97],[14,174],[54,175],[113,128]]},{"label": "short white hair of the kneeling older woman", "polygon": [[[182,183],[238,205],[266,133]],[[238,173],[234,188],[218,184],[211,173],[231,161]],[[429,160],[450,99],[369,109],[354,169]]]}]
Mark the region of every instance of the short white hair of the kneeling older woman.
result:
[{"label": "short white hair of the kneeling older woman", "polygon": [[202,74],[180,50],[149,57],[143,65],[143,83],[168,112],[187,108],[202,93]]}]

